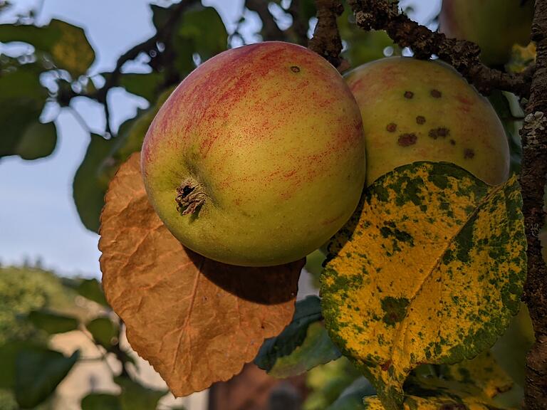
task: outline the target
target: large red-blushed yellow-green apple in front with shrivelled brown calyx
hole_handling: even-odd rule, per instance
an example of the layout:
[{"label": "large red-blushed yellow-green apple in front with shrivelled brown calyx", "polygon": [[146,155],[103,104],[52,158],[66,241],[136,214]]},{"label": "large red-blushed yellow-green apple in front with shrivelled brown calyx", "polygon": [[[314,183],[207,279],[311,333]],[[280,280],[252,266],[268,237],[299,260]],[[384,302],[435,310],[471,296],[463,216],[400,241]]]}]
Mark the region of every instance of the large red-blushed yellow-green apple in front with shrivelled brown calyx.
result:
[{"label": "large red-blushed yellow-green apple in front with shrivelled brown calyx", "polygon": [[141,169],[155,211],[192,251],[239,266],[296,261],[358,204],[359,107],[338,71],[307,48],[234,48],[170,95],[145,137]]}]

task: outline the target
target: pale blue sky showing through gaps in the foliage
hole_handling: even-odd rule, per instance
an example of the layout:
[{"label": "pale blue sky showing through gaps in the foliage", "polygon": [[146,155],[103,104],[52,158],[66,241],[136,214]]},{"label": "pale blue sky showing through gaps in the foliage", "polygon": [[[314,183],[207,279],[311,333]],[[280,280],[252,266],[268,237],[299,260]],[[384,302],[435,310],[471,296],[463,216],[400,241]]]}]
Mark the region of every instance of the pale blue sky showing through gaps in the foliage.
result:
[{"label": "pale blue sky showing through gaps in the foliage", "polygon": [[[41,0],[11,0],[14,11],[30,9]],[[413,18],[428,21],[440,0],[401,1],[412,4]],[[91,73],[113,70],[118,56],[155,32],[148,4],[167,1],[147,0],[43,0],[38,23],[52,18],[83,26],[95,48]],[[228,31],[233,31],[241,16],[243,0],[203,0],[221,14]],[[13,12],[12,12],[13,13]],[[2,22],[9,19],[4,17]],[[247,42],[257,41],[251,33],[258,30],[259,19],[246,15],[243,28]],[[2,48],[0,46],[0,52]],[[138,64],[131,68],[139,70]],[[1,90],[0,90],[1,93]],[[100,105],[75,99],[74,107],[91,130],[104,128]],[[137,107],[147,102],[118,88],[109,93],[114,129],[133,117]],[[85,155],[89,135],[70,110],[62,110],[56,120],[58,144],[49,157],[24,161],[19,157],[0,159],[0,264],[19,265],[28,261],[63,275],[100,277],[98,235],[81,224],[72,199],[72,180]]]}]

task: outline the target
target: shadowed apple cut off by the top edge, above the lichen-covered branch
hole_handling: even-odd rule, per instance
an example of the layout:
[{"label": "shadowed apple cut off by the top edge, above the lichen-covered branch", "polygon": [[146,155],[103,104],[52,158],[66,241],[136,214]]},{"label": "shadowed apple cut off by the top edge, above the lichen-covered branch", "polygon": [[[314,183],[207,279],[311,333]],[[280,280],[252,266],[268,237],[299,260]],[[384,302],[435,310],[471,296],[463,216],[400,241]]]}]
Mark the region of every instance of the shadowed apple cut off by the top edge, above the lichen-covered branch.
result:
[{"label": "shadowed apple cut off by the top edge, above the lichen-covered branch", "polygon": [[476,43],[481,61],[507,63],[514,44],[530,42],[533,0],[443,0],[439,31]]}]

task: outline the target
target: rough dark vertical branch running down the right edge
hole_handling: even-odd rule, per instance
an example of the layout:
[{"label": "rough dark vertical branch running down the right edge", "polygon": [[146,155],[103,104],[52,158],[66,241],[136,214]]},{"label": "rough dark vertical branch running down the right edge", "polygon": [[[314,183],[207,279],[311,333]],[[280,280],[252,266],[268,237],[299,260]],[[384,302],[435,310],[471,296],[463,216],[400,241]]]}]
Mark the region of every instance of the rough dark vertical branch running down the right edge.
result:
[{"label": "rough dark vertical branch running down the right edge", "polygon": [[528,275],[523,300],[528,305],[536,342],[526,357],[525,408],[547,409],[547,267],[535,226],[543,226],[543,189],[547,178],[547,0],[536,0],[532,24],[536,70],[521,130],[521,188],[528,239]]}]

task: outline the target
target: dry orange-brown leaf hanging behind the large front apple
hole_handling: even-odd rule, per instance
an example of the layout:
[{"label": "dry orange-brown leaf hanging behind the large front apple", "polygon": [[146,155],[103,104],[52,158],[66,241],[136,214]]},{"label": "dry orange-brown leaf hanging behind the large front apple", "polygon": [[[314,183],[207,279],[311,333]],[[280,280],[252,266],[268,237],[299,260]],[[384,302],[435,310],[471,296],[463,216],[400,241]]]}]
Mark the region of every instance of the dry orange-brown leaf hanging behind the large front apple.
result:
[{"label": "dry orange-brown leaf hanging behind the large front apple", "polygon": [[241,268],[184,248],[148,203],[139,154],[110,183],[100,234],[108,303],[175,396],[229,379],[291,322],[304,261]]}]

